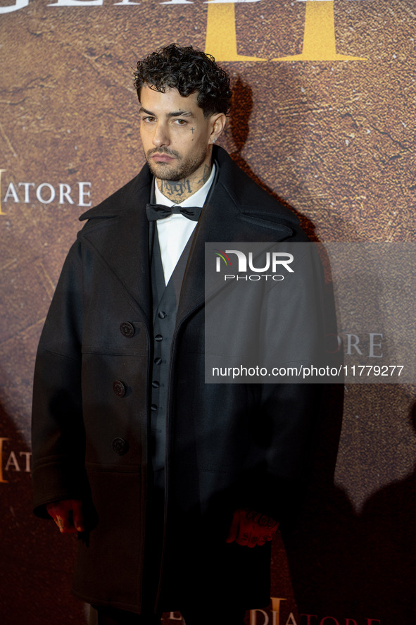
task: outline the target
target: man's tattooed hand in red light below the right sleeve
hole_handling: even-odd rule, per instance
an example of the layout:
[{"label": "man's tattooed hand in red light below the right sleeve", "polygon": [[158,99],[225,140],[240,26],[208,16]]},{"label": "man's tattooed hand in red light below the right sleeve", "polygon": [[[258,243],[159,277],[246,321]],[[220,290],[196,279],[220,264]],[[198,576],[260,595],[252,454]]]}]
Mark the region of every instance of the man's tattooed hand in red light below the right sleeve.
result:
[{"label": "man's tattooed hand in red light below the right sleeve", "polygon": [[279,524],[270,516],[254,512],[248,508],[239,508],[234,512],[232,524],[229,528],[227,543],[237,543],[255,547],[264,545],[266,540],[272,540]]}]

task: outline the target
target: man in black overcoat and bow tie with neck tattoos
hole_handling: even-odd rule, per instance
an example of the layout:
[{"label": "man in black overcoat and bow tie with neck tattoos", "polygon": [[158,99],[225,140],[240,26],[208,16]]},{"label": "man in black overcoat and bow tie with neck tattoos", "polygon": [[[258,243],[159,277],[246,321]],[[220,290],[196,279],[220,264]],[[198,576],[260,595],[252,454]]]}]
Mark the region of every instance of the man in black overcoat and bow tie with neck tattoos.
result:
[{"label": "man in black overcoat and bow tie with neck tattoos", "polygon": [[214,146],[231,92],[212,57],[171,44],[135,78],[146,165],[81,217],[39,342],[35,512],[78,533],[99,624],[241,625],[269,602],[313,389],[204,383],[204,244],[307,238]]}]

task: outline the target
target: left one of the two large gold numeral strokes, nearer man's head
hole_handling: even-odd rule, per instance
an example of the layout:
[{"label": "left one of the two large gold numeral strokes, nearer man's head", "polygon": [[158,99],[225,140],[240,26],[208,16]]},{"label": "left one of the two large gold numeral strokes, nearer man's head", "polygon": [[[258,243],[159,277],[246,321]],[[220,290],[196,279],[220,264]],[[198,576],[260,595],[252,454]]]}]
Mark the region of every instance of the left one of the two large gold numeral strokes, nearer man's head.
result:
[{"label": "left one of the two large gold numeral strokes, nearer man's head", "polygon": [[215,61],[266,61],[257,56],[244,56],[237,52],[237,32],[234,2],[209,0],[206,24],[205,51]]}]

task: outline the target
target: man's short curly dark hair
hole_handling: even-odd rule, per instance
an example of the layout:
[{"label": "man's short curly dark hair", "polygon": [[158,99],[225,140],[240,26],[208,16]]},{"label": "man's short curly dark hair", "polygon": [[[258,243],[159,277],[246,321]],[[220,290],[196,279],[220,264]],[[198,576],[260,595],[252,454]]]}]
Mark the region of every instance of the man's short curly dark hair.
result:
[{"label": "man's short curly dark hair", "polygon": [[167,88],[177,89],[182,97],[196,92],[205,117],[229,112],[232,96],[229,75],[215,63],[213,56],[192,46],[169,44],[138,61],[134,86],[139,100],[143,85],[161,93]]}]

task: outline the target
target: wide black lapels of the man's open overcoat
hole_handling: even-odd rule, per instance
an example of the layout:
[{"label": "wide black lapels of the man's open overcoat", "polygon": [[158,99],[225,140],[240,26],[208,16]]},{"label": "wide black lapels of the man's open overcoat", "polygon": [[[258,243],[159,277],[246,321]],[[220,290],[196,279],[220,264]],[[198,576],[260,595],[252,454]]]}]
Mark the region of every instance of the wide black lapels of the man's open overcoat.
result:
[{"label": "wide black lapels of the man's open overcoat", "polygon": [[[215,150],[220,173],[194,231],[177,311],[177,326],[203,306],[205,297],[205,243],[276,242],[296,230],[297,219],[272,199],[232,162]],[[152,175],[144,166],[139,175],[80,219],[89,219],[79,234],[118,278],[132,305],[151,328],[149,259],[149,202]],[[290,217],[288,215],[290,214]],[[286,223],[286,225],[285,225]]]}]

